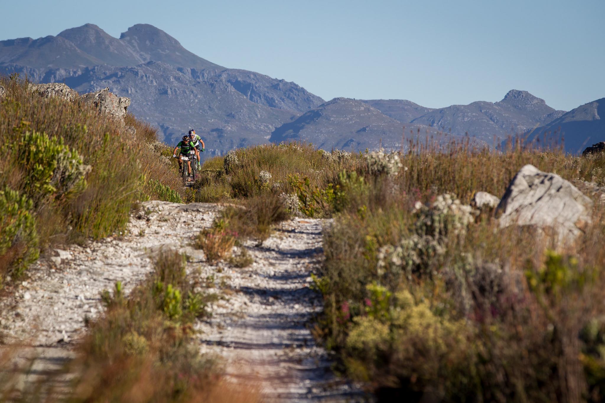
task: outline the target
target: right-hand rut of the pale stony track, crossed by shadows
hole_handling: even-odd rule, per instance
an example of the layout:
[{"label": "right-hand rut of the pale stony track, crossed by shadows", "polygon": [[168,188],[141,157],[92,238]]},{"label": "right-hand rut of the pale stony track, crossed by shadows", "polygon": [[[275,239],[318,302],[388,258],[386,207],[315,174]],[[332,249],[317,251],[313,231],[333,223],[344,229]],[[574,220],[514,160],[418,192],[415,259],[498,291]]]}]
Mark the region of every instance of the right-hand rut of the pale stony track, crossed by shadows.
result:
[{"label": "right-hand rut of the pale stony track, crossed by shadows", "polygon": [[332,375],[309,330],[322,307],[309,288],[323,258],[322,224],[294,219],[261,246],[249,242],[255,262],[227,273],[223,282],[232,294],[198,326],[204,351],[226,359],[227,374],[260,387],[267,401],[363,401],[358,389]]}]

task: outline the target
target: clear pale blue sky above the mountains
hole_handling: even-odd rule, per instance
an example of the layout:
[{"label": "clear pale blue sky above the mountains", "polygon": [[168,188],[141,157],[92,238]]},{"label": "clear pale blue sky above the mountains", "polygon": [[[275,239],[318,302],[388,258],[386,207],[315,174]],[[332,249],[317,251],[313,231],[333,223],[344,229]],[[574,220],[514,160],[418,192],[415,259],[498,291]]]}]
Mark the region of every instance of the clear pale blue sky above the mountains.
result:
[{"label": "clear pale blue sky above the mountains", "polygon": [[1,0],[0,39],[87,22],[155,25],[204,59],[294,81],[325,100],[433,108],[525,89],[557,109],[605,97],[605,1]]}]

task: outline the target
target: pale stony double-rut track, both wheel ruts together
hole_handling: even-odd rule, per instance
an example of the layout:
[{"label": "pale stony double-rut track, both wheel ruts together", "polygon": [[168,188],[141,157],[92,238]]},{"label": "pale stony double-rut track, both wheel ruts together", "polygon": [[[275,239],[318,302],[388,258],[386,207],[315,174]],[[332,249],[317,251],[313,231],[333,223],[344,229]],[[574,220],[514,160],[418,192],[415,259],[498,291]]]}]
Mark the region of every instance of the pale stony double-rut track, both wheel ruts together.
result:
[{"label": "pale stony double-rut track, both wheel ruts together", "polygon": [[214,266],[189,243],[220,208],[145,202],[122,236],[70,245],[39,260],[13,296],[0,301],[2,341],[38,346],[43,361],[34,367],[56,369],[70,358],[85,317],[102,312],[100,291],[120,281],[129,292],[151,271],[150,256],[161,248],[178,249],[189,256],[189,269],[214,279],[216,289],[209,291],[225,293],[212,306],[211,320],[197,329],[203,352],[223,356],[231,379],[255,382],[270,401],[360,401],[358,390],[334,378],[307,327],[321,311],[321,299],[309,285],[310,272],[321,263],[322,221],[294,219],[260,247],[250,242],[246,248],[255,262],[248,268]]}]

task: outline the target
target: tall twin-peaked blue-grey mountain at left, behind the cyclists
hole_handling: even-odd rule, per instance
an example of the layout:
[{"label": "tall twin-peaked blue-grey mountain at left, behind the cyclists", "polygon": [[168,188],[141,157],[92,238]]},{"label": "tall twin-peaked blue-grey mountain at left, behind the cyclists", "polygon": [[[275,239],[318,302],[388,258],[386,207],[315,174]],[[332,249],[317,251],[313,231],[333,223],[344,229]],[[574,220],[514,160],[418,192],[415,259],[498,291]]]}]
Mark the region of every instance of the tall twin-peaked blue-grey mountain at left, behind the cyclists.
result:
[{"label": "tall twin-peaked blue-grey mountain at left, behind the cyclists", "polygon": [[57,36],[0,42],[0,72],[65,82],[79,92],[109,87],[132,98],[130,111],[175,143],[191,127],[211,153],[266,143],[275,127],[324,102],[296,83],[226,69],[148,24],[120,39],[94,24]]}]

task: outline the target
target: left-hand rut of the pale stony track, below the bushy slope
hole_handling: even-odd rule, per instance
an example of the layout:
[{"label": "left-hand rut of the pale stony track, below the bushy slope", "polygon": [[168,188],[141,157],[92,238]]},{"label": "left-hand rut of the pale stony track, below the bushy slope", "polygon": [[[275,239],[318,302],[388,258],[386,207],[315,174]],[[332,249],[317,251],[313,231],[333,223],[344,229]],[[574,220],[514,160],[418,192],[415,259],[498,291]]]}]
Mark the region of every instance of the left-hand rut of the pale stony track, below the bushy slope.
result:
[{"label": "left-hand rut of the pale stony track, below the bushy slope", "polygon": [[[175,248],[191,260],[203,259],[188,244],[201,228],[212,225],[215,204],[149,201],[135,213],[123,236],[55,250],[30,269],[12,298],[0,302],[0,334],[4,343],[55,346],[82,334],[85,318],[102,310],[99,293],[116,282],[129,292],[151,271],[150,256]],[[196,221],[191,217],[195,214]]]}]

